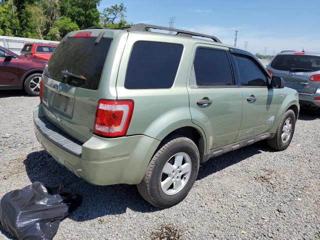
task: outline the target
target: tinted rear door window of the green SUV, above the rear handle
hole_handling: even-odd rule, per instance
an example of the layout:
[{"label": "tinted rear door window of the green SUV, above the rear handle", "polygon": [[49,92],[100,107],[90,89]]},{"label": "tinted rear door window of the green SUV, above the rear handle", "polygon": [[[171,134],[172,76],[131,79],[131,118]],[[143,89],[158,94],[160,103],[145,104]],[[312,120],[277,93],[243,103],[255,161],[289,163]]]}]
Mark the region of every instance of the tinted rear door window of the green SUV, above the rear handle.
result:
[{"label": "tinted rear door window of the green SUV, above the rear handle", "polygon": [[233,85],[226,51],[197,48],[193,67],[197,86]]}]

